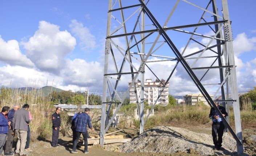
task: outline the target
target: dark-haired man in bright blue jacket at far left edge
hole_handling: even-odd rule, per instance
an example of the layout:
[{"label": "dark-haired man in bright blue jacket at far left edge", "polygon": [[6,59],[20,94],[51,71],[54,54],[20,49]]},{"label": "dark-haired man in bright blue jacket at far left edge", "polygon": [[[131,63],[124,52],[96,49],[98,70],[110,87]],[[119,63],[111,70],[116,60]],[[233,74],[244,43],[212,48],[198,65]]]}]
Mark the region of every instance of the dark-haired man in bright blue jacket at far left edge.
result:
[{"label": "dark-haired man in bright blue jacket at far left edge", "polygon": [[7,121],[7,117],[5,117],[6,114],[8,114],[10,107],[4,106],[2,109],[2,112],[0,113],[0,155],[2,156],[3,147],[5,144],[5,140],[7,137],[7,133],[9,130],[9,126],[11,125],[11,122]]}]

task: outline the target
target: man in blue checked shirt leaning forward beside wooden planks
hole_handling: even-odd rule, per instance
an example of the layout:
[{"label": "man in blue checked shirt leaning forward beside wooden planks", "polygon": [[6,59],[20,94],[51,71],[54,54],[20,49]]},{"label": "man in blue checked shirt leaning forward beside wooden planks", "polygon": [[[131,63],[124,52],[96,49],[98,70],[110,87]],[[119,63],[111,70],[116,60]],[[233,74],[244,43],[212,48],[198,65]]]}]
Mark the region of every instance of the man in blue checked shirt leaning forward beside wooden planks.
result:
[{"label": "man in blue checked shirt leaning forward beside wooden planks", "polygon": [[91,118],[88,115],[90,112],[89,108],[85,108],[85,112],[81,113],[80,115],[78,115],[74,121],[75,127],[76,127],[76,139],[73,143],[73,150],[71,151],[72,153],[77,153],[76,151],[76,147],[77,147],[77,143],[78,140],[80,139],[80,135],[82,134],[84,137],[84,142],[85,142],[85,151],[84,153],[89,153],[88,151],[88,141],[87,141],[87,135],[88,135],[88,131],[87,131],[87,125],[89,126],[89,128],[91,128],[92,131],[94,131],[94,128],[92,126],[91,123]]}]

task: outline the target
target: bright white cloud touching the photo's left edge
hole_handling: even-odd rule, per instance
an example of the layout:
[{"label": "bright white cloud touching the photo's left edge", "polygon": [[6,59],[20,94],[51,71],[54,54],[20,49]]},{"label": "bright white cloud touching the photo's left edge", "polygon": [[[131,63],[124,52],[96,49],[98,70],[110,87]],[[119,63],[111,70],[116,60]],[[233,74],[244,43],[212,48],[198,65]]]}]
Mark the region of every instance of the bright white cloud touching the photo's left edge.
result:
[{"label": "bright white cloud touching the photo's left edge", "polygon": [[0,61],[11,65],[33,67],[34,64],[21,54],[19,43],[16,40],[5,42],[0,35]]}]

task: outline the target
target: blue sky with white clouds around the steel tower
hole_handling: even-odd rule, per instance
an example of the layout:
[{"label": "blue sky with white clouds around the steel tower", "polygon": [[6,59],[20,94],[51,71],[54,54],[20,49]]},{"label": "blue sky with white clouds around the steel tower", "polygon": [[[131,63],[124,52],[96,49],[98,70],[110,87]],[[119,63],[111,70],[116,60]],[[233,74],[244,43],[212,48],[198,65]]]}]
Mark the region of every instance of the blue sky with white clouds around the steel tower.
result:
[{"label": "blue sky with white clouds around the steel tower", "polygon": [[[190,1],[205,7],[200,0]],[[101,93],[107,5],[107,0],[1,1],[0,85],[43,87],[48,80],[48,85],[64,90]],[[163,24],[173,5],[168,0],[150,0],[148,7]],[[256,86],[255,6],[254,0],[228,0],[239,92]],[[202,10],[192,10],[191,5],[181,1],[168,26],[194,24],[201,14]],[[175,33],[173,36],[180,37]],[[174,43],[179,50],[186,45],[178,40]],[[180,72],[176,72],[173,82],[179,81]],[[123,80],[123,87],[127,81]],[[170,89],[170,93],[198,92],[191,83],[185,86],[174,87],[180,89]]]}]

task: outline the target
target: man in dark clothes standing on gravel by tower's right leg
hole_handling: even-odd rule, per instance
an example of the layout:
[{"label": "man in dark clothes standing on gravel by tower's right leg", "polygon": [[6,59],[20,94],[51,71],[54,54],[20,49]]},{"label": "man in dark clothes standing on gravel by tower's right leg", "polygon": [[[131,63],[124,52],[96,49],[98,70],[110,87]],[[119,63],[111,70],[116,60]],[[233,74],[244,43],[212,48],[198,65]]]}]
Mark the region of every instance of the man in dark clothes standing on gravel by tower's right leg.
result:
[{"label": "man in dark clothes standing on gravel by tower's right leg", "polygon": [[[215,105],[219,108],[224,117],[228,116],[225,107],[220,106],[217,102],[215,102]],[[219,117],[214,107],[212,107],[210,110],[209,118],[212,119],[212,139],[214,142],[214,148],[220,150],[222,147],[222,136],[225,128],[223,119]]]}]

